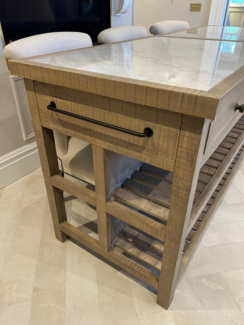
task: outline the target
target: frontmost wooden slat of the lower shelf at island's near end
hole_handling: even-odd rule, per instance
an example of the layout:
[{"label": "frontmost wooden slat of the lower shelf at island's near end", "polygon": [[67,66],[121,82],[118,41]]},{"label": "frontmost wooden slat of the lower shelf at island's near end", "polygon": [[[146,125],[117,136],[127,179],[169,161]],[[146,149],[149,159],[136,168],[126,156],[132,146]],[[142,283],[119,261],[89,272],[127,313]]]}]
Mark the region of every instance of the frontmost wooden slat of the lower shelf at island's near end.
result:
[{"label": "frontmost wooden slat of the lower shelf at island's near end", "polygon": [[118,237],[115,240],[114,245],[128,254],[136,257],[140,261],[146,263],[147,265],[152,266],[156,270],[161,270],[162,258],[154,253],[151,253],[147,249],[142,248],[141,245],[133,241],[129,241],[123,237]]}]

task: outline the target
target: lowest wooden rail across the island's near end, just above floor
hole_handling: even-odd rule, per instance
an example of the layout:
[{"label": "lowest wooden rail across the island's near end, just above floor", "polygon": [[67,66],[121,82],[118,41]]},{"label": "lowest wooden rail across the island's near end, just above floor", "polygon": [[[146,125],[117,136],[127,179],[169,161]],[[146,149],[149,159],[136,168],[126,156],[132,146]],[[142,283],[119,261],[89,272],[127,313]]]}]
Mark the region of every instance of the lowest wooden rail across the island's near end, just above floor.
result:
[{"label": "lowest wooden rail across the island's near end, just above floor", "polygon": [[72,226],[67,222],[61,222],[60,228],[64,234],[67,234],[68,236],[74,238],[78,242],[92,249],[94,252],[105,257],[115,265],[123,268],[138,279],[141,279],[142,281],[151,285],[153,288],[157,289],[159,277],[155,273],[149,271],[145,267],[132,261],[131,259],[120,254],[119,252],[116,252],[113,249],[111,249],[109,252],[105,252],[101,247],[99,247],[98,240],[89,236],[88,234],[84,233],[80,229]]}]

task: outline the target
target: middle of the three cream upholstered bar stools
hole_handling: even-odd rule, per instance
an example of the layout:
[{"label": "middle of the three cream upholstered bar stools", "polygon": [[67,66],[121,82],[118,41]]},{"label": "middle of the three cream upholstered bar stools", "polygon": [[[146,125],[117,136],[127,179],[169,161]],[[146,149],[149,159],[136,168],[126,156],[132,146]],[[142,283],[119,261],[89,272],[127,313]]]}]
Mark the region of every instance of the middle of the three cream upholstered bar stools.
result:
[{"label": "middle of the three cream upholstered bar stools", "polygon": [[102,31],[97,39],[101,44],[127,41],[148,36],[147,30],[142,26],[116,26]]}]

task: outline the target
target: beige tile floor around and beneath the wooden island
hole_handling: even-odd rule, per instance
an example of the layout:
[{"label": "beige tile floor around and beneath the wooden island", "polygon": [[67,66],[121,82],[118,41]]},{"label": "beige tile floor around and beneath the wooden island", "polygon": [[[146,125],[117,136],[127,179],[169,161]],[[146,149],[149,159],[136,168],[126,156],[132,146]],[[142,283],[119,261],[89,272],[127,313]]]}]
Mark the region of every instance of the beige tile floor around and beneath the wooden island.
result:
[{"label": "beige tile floor around and beneath the wooden island", "polygon": [[[68,221],[96,236],[96,211],[65,195]],[[55,239],[41,169],[0,190],[1,325],[244,325],[244,164],[175,291],[156,290]]]}]

